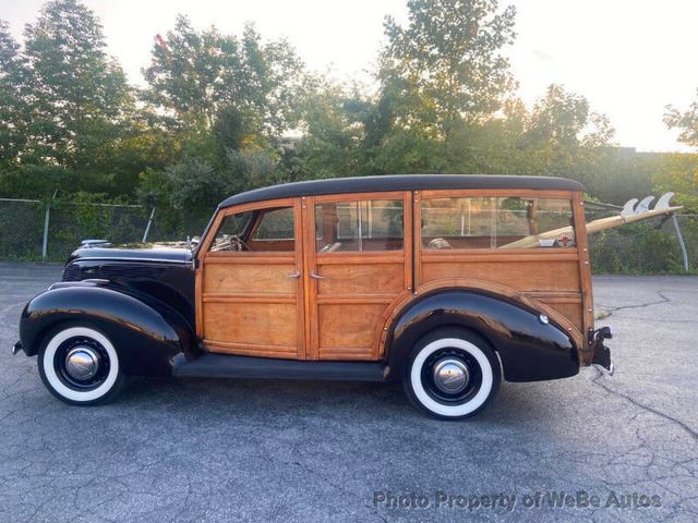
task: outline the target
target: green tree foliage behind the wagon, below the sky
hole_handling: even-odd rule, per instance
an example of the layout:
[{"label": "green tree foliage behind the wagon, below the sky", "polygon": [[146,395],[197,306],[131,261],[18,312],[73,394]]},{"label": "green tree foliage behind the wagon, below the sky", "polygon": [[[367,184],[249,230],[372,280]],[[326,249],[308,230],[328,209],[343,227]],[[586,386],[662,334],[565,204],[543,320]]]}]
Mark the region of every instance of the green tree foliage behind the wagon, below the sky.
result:
[{"label": "green tree foliage behind the wagon, below the sky", "polygon": [[[284,181],[460,172],[575,178],[612,203],[654,187],[693,202],[695,156],[614,147],[607,118],[562,85],[530,108],[517,98],[515,15],[497,0],[407,0],[405,23],[385,19],[374,87],[306,71],[251,24],[231,35],[181,15],[155,36],[136,88],[96,15],[49,0],[22,46],[0,21],[0,195],[59,188],[179,216]],[[694,147],[697,104],[665,117]]]}]

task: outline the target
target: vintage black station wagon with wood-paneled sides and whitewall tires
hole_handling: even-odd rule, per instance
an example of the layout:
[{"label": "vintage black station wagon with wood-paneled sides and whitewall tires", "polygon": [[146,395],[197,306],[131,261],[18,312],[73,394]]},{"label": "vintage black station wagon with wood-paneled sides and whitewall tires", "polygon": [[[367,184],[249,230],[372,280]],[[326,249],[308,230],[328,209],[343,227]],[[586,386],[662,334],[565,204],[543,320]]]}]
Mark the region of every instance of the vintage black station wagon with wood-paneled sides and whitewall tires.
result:
[{"label": "vintage black station wagon with wood-paneled sides and whitewall tires", "polygon": [[72,404],[133,375],[397,380],[420,410],[468,417],[502,379],[612,368],[582,191],[390,175],[238,194],[193,250],[79,248],[26,305],[14,352]]}]

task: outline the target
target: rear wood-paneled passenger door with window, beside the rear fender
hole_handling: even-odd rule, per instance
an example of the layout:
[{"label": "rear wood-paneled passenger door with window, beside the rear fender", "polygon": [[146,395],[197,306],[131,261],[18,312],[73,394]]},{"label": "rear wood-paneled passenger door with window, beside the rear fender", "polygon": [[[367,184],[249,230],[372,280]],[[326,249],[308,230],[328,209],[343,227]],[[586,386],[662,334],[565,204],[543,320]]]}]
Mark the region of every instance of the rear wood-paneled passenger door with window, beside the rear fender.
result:
[{"label": "rear wood-paneled passenger door with window, beside the rear fender", "polygon": [[313,360],[377,360],[375,331],[412,284],[411,193],[303,198]]}]

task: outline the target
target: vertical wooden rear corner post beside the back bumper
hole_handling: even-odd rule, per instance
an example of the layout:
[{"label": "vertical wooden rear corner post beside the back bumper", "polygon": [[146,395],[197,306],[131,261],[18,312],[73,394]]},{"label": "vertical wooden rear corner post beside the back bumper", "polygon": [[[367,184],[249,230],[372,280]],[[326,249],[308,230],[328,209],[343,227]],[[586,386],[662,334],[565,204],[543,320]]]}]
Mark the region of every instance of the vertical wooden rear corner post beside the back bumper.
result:
[{"label": "vertical wooden rear corner post beside the back bumper", "polygon": [[575,238],[579,252],[579,280],[581,281],[582,293],[582,319],[583,340],[580,354],[582,365],[591,364],[591,333],[593,332],[593,292],[591,284],[591,259],[589,257],[589,242],[587,240],[587,227],[585,217],[585,202],[581,193],[575,193],[573,197],[573,216],[575,226]]}]

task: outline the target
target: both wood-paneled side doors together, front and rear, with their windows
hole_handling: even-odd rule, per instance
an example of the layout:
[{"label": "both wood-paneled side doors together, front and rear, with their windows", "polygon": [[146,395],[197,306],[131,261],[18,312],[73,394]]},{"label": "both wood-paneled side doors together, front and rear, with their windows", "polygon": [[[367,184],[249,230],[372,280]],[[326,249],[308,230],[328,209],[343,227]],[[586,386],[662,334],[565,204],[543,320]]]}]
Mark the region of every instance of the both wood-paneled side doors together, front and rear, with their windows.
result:
[{"label": "both wood-paneled side doors together, front and rear, with their windows", "polygon": [[376,329],[412,285],[409,192],[287,198],[220,214],[196,272],[210,352],[377,360]]}]

